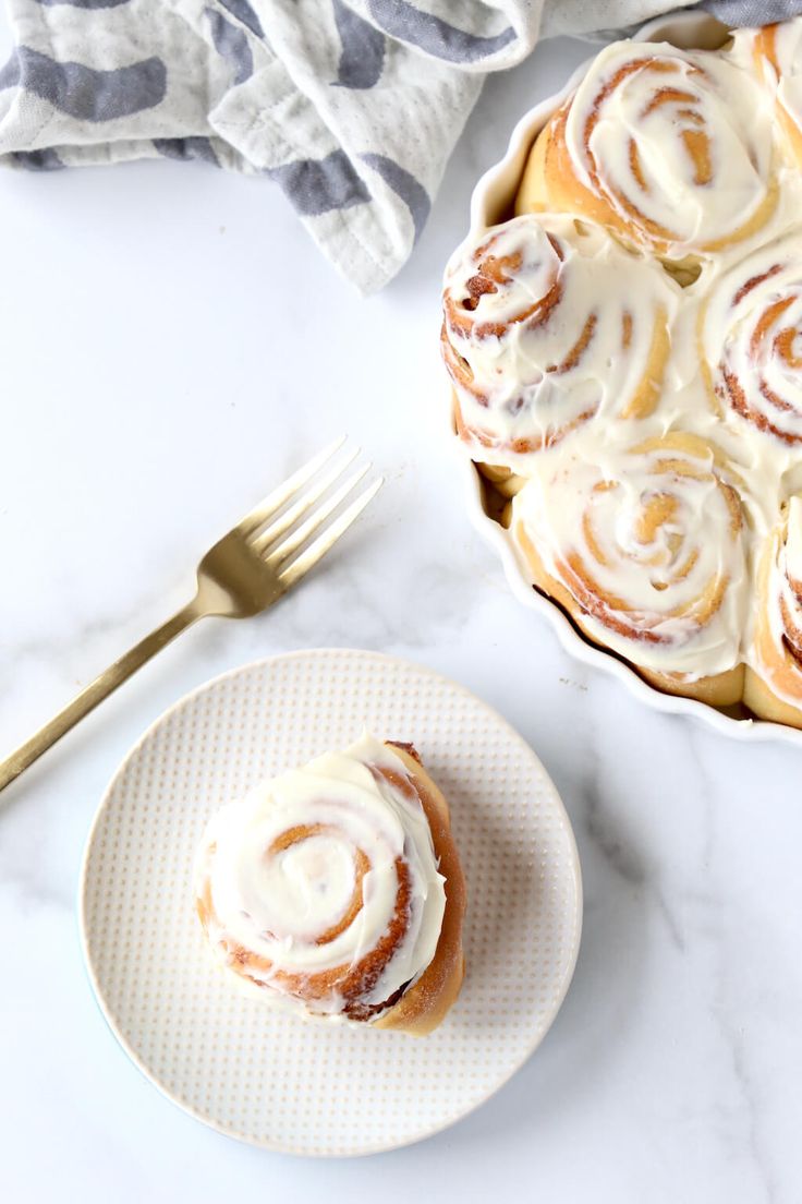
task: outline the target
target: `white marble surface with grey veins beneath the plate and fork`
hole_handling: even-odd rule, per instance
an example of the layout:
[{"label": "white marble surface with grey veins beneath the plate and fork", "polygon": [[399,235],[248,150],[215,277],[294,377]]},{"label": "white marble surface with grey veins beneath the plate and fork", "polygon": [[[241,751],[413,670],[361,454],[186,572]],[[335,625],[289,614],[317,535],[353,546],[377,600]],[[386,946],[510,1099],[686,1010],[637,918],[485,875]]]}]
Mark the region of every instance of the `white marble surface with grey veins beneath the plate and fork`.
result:
[{"label": "white marble surface with grey veins beneath the plate and fork", "polygon": [[[5,49],[5,47],[0,47]],[[491,82],[414,261],[360,301],[279,193],[201,165],[4,173],[0,743],[171,612],[196,553],[340,430],[387,476],[262,619],[209,621],[0,808],[0,1192],[11,1202],[430,1198],[795,1204],[802,1182],[802,754],[643,709],[507,594],[436,413],[438,285],[470,188],[587,48]],[[489,1104],[417,1147],[319,1163],[239,1146],[129,1064],[84,976],[83,843],[186,690],[273,651],[440,669],[531,742],[574,821],[586,929],[563,1013]],[[476,905],[476,904],[475,904]]]}]

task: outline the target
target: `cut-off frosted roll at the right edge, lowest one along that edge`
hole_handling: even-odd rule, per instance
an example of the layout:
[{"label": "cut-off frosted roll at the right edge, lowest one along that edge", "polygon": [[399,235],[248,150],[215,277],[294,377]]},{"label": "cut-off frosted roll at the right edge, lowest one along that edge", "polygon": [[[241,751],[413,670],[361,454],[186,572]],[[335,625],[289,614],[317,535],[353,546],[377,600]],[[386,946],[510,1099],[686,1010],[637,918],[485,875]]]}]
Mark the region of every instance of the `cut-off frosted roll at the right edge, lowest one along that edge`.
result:
[{"label": "cut-off frosted roll at the right edge, lowest one along that edge", "polygon": [[802,496],[786,503],[758,568],[755,631],[743,701],[761,719],[802,727]]}]

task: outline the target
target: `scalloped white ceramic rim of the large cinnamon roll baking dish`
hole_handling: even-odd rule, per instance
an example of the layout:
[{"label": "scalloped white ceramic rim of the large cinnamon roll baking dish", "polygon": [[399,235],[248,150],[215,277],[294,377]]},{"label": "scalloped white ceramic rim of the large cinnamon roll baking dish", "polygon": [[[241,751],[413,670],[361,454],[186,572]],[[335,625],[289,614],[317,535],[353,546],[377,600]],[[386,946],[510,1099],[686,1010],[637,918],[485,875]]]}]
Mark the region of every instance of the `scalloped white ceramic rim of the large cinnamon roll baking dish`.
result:
[{"label": "scalloped white ceramic rim of the large cinnamon roll baking dish", "polygon": [[[671,42],[671,34],[675,36],[679,31],[689,42],[694,37],[700,37],[702,30],[713,25],[730,30],[725,22],[718,20],[707,12],[682,12],[672,11],[655,17],[641,25],[632,35],[635,42]],[[576,67],[557,92],[539,100],[536,105],[527,110],[516,122],[501,158],[485,171],[470,196],[470,225],[468,238],[475,237],[493,224],[493,211],[498,209],[500,199],[511,193],[519,181],[523,161],[531,148],[531,144],[543,128],[552,113],[568,98],[575,83],[584,76],[595,54],[590,54]],[[447,423],[447,437],[452,445],[456,444],[453,421],[451,418],[451,389],[446,382],[448,402],[444,406]],[[802,728],[791,727],[766,719],[735,719],[725,715],[714,707],[696,698],[685,698],[682,695],[665,694],[649,685],[626,661],[619,660],[614,654],[596,647],[581,636],[572,626],[560,607],[545,595],[533,589],[527,578],[519,560],[519,554],[515,547],[512,537],[504,527],[499,526],[494,519],[486,514],[482,506],[481,483],[479,472],[471,459],[467,458],[462,448],[456,448],[459,460],[459,470],[463,473],[463,497],[468,503],[468,517],[471,526],[482,537],[486,544],[493,548],[501,560],[501,567],[507,585],[515,597],[531,610],[536,610],[549,624],[557,635],[558,643],[565,653],[574,660],[593,668],[601,669],[608,677],[620,681],[625,689],[641,703],[652,710],[663,714],[684,715],[701,720],[730,739],[744,742],[777,740],[780,744],[789,744],[792,748],[802,748]]]}]

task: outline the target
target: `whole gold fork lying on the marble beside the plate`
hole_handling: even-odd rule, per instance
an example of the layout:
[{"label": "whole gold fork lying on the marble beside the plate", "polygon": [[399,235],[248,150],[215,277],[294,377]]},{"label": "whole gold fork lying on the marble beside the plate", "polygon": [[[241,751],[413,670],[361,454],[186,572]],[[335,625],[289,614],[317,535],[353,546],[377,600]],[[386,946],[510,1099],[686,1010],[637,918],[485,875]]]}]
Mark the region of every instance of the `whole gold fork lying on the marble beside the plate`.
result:
[{"label": "whole gold fork lying on the marble beside the plate", "polygon": [[[206,615],[246,619],[260,614],[314,568],[382,485],[379,477],[351,496],[370,465],[343,480],[360,450],[350,452],[344,461],[335,460],[344,442],[338,439],[298,468],[207,551],[197,568],[192,601],[114,661],[49,724],[0,761],[0,790],[197,619]],[[349,504],[335,514],[349,498]],[[313,539],[315,532],[320,533]]]}]

